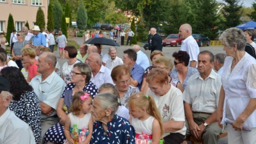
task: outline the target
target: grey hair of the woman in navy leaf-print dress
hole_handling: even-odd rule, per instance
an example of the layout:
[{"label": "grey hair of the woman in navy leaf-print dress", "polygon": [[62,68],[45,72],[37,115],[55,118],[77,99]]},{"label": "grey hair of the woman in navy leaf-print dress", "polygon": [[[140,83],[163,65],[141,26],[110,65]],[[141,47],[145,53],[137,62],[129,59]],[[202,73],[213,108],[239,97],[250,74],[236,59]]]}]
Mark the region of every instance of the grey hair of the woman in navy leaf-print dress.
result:
[{"label": "grey hair of the woman in navy leaf-print dress", "polygon": [[120,99],[118,98],[118,96],[112,93],[97,94],[94,97],[94,100],[95,99],[99,100],[99,103],[102,109],[111,108],[112,109],[111,115],[114,115],[119,108]]}]

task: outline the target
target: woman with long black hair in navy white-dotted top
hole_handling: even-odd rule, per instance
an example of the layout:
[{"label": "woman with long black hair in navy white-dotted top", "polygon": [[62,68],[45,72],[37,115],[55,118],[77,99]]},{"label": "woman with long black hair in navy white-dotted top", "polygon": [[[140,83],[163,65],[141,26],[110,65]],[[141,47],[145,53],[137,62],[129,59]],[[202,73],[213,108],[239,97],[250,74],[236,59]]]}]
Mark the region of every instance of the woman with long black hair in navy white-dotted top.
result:
[{"label": "woman with long black hair in navy white-dotted top", "polygon": [[21,120],[26,122],[39,144],[41,140],[41,108],[33,88],[28,85],[20,70],[16,67],[2,69],[1,75],[8,81],[13,99],[9,108]]}]

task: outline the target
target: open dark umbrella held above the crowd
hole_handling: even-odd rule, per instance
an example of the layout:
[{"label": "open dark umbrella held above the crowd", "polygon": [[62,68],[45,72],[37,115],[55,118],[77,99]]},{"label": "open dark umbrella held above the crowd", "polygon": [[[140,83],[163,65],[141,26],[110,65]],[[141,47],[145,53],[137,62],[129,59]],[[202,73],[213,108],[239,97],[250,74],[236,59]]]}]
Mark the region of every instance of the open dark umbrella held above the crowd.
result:
[{"label": "open dark umbrella held above the crowd", "polygon": [[101,44],[101,45],[112,45],[120,46],[118,43],[109,38],[104,37],[93,37],[85,41],[83,44]]}]

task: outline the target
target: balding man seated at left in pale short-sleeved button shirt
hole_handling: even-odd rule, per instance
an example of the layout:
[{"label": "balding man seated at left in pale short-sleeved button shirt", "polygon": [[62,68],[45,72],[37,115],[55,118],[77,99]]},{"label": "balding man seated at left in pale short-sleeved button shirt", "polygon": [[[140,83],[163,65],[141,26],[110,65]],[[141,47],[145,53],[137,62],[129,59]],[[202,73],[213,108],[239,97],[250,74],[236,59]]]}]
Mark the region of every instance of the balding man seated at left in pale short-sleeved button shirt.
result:
[{"label": "balding man seated at left in pale short-sleeved button shirt", "polygon": [[41,107],[41,143],[43,143],[46,131],[59,121],[56,108],[66,86],[63,79],[54,71],[56,62],[57,59],[53,53],[40,54],[37,62],[37,72],[40,75],[30,81]]}]

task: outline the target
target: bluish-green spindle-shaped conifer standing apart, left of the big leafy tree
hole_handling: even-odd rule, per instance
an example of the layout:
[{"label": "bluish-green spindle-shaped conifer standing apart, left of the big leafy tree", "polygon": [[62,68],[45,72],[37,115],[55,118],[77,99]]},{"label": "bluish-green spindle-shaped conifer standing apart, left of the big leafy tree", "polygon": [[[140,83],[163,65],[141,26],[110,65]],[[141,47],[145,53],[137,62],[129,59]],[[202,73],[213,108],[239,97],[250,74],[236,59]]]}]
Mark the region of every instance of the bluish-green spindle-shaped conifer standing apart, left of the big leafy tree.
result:
[{"label": "bluish-green spindle-shaped conifer standing apart, left of the big leafy tree", "polygon": [[80,0],[80,5],[77,10],[77,18],[76,18],[76,24],[79,29],[85,29],[87,25],[87,12],[84,8],[83,1]]}]

